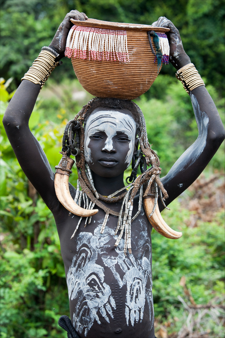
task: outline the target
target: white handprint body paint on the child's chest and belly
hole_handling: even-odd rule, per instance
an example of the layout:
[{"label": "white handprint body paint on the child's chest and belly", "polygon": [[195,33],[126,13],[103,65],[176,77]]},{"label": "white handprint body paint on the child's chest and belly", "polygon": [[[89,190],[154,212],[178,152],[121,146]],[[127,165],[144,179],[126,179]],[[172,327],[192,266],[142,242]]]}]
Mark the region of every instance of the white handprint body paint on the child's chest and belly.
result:
[{"label": "white handprint body paint on the child's chest and belly", "polygon": [[[87,336],[94,321],[101,324],[102,320],[111,323],[118,306],[115,294],[110,285],[105,283],[105,269],[110,268],[119,289],[125,288],[124,320],[127,325],[134,326],[143,319],[144,307],[153,309],[152,281],[151,281],[151,244],[146,230],[139,235],[142,240],[138,243],[141,248],[137,257],[123,254],[123,240],[119,247],[109,254],[111,242],[116,240],[114,230],[106,228],[103,235],[100,228],[103,220],[97,221],[94,234],[81,232],[77,239],[77,254],[73,258],[67,273],[69,299],[76,301],[73,315],[73,325],[78,334]],[[140,220],[142,222],[142,220]],[[144,224],[143,224],[144,225]],[[134,234],[135,235],[135,234]],[[110,243],[110,244],[109,244]],[[134,245],[135,247],[135,245]],[[96,263],[98,259],[99,265]],[[102,262],[102,263],[101,263]],[[105,268],[104,268],[105,266]],[[150,320],[152,314],[150,312]]]}]

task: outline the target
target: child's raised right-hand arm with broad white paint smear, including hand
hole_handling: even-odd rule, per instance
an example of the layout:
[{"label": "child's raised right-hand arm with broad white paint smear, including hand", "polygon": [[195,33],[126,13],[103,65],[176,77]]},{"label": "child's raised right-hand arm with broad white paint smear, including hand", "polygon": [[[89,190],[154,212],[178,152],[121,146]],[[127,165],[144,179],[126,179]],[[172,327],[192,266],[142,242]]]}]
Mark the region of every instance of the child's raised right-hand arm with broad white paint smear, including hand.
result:
[{"label": "child's raised right-hand arm with broad white paint smear, including hand", "polygon": [[[186,65],[190,66],[191,60],[185,53],[180,34],[172,22],[165,17],[161,17],[152,26],[170,28],[170,32],[167,34],[170,44],[169,61],[175,69],[179,71],[186,68],[184,67]],[[191,70],[191,67],[186,69]],[[192,81],[197,84],[198,79],[195,80],[194,77],[195,75],[193,75]],[[190,77],[188,81],[190,83]],[[168,174],[161,179],[169,195],[169,198],[165,201],[166,205],[196,180],[224,140],[224,127],[211,96],[203,85],[195,89],[192,89],[191,86],[189,85],[191,91],[188,91],[199,135],[197,140],[175,162]],[[160,209],[163,210],[161,203]]]}]

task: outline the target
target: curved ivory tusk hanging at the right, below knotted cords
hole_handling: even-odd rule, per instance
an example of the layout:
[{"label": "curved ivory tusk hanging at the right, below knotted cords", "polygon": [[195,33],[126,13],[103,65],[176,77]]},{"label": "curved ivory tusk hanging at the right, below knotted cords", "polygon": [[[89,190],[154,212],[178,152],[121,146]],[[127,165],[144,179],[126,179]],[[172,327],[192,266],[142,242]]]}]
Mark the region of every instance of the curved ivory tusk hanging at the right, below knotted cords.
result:
[{"label": "curved ivory tusk hanging at the right, below knotted cords", "polygon": [[148,220],[153,226],[153,228],[164,237],[172,239],[180,238],[182,236],[182,233],[171,229],[162,218],[159,211],[158,201],[156,205],[156,210],[154,211],[153,215],[150,216],[153,207],[154,207],[154,198],[151,197],[144,198],[144,209],[148,217]]}]

